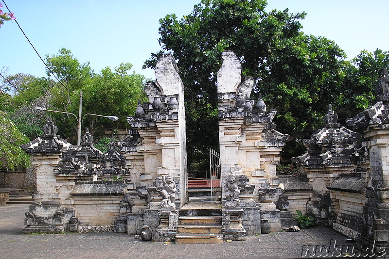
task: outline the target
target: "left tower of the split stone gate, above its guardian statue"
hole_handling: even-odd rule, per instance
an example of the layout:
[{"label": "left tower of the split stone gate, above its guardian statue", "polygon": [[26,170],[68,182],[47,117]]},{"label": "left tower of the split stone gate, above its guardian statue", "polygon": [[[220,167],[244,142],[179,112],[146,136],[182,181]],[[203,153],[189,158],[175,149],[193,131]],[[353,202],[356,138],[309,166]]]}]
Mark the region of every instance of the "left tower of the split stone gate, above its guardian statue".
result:
[{"label": "left tower of the split stone gate, above its guardian statue", "polygon": [[[125,156],[133,162],[131,175],[139,186],[152,187],[161,176],[174,178],[179,189],[178,208],[185,203],[186,123],[184,90],[172,55],[162,55],[157,62],[156,82],[147,82],[149,102],[139,104],[134,117],[128,117],[131,130],[139,134],[141,145]],[[136,153],[135,153],[136,152]],[[137,172],[138,170],[138,172]]]}]

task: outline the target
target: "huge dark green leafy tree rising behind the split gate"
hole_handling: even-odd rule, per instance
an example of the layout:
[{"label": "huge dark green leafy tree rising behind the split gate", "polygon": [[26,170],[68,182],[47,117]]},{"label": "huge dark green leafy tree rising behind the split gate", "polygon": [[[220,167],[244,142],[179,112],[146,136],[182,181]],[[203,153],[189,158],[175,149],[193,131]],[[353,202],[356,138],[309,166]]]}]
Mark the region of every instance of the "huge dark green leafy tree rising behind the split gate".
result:
[{"label": "huge dark green leafy tree rising behind the split gate", "polygon": [[262,92],[268,107],[279,111],[280,130],[292,140],[312,132],[334,100],[344,52],[324,37],[303,34],[305,13],[265,12],[265,6],[266,0],[202,0],[188,16],[160,19],[162,50],[145,66],[153,67],[163,51],[178,59],[191,162],[218,148],[216,72],[223,50],[240,58],[243,76],[256,79],[251,97]]}]

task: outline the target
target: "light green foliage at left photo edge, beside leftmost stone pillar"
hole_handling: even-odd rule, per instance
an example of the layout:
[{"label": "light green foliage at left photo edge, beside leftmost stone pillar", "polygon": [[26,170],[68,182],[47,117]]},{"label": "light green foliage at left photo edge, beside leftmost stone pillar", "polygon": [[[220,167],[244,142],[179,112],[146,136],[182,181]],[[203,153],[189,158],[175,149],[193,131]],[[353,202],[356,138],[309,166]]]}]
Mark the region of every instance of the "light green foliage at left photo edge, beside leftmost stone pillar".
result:
[{"label": "light green foliage at left photo edge, beside leftmost stone pillar", "polygon": [[7,113],[0,111],[0,167],[12,170],[19,165],[28,167],[30,158],[20,148],[28,142],[29,139],[7,118]]}]

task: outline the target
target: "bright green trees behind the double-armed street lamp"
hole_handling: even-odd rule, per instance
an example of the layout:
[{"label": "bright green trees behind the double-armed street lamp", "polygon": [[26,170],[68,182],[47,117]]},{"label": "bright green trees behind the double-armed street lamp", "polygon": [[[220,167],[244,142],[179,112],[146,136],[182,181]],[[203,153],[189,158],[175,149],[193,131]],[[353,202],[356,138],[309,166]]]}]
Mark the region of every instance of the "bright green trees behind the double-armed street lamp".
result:
[{"label": "bright green trees behind the double-armed street lamp", "polygon": [[[106,67],[100,74],[90,68],[89,63],[81,63],[71,51],[60,49],[57,55],[46,56],[47,74],[52,73],[61,82],[52,89],[50,108],[78,115],[80,91],[83,91],[83,114],[115,115],[120,120],[116,127],[124,127],[125,118],[135,112],[138,98],[144,98],[144,77],[129,73],[131,64],[121,64],[112,71]],[[48,108],[48,107],[47,107]],[[72,115],[52,113],[58,132],[65,138],[74,140],[76,120]],[[82,123],[91,134],[96,130],[111,128],[112,122],[106,118],[88,115]]]}]

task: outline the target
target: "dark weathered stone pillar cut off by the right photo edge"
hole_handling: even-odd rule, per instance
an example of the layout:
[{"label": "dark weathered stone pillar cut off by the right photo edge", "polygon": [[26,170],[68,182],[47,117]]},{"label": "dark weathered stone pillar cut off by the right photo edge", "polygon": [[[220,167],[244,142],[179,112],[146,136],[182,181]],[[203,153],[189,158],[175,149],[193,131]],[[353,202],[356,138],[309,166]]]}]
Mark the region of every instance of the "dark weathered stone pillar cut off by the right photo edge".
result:
[{"label": "dark weathered stone pillar cut off by the right photo edge", "polygon": [[375,87],[376,100],[371,108],[347,120],[363,133],[362,143],[369,152],[364,222],[357,242],[361,247],[375,241],[375,247],[389,251],[389,77],[387,69]]}]

